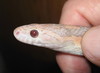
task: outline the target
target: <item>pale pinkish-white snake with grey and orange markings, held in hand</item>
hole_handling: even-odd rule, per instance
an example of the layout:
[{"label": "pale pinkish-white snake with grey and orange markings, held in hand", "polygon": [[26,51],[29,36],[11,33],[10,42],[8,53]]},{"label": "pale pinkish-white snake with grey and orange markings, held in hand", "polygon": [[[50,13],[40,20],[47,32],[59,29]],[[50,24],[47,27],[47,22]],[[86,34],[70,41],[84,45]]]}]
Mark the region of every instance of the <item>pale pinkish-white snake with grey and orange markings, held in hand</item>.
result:
[{"label": "pale pinkish-white snake with grey and orange markings, held in hand", "polygon": [[13,34],[26,44],[83,56],[82,38],[89,29],[88,26],[33,23],[15,28]]}]

